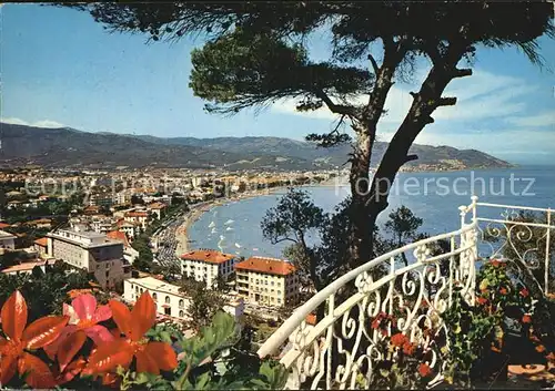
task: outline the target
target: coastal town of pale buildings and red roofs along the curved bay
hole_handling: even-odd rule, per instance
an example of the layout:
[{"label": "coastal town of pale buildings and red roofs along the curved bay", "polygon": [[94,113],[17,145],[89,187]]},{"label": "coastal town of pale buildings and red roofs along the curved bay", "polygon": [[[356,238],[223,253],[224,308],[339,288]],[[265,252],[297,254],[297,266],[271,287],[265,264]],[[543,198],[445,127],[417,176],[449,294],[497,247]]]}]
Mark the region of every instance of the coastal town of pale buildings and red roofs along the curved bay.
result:
[{"label": "coastal town of pale buildings and red roofs along the curved bay", "polygon": [[297,270],[286,259],[191,246],[188,231],[203,213],[287,186],[330,185],[344,173],[21,168],[0,175],[2,274],[48,272],[48,265],[63,263],[129,303],[149,291],[159,318],[183,326],[191,298],[182,278],[206,289],[224,284],[222,309],[238,322],[250,313],[276,321],[283,308],[300,303]]}]

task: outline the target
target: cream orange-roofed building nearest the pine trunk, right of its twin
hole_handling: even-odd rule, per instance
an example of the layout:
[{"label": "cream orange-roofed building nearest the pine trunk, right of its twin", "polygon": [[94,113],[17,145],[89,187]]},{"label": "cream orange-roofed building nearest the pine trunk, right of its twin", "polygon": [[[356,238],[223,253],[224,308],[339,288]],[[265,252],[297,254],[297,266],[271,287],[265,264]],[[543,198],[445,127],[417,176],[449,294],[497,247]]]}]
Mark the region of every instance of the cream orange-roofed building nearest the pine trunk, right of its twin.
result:
[{"label": "cream orange-roofed building nearest the pine trunk, right of its twin", "polygon": [[251,257],[235,265],[236,289],[253,303],[281,307],[299,302],[299,275],[287,261]]}]

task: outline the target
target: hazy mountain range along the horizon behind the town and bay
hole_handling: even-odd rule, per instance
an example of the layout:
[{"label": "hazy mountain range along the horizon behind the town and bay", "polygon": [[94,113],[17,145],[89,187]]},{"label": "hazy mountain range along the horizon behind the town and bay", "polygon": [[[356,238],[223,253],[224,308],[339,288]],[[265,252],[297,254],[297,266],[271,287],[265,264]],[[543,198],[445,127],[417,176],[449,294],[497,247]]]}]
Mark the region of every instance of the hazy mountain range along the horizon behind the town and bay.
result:
[{"label": "hazy mountain range along the horizon behind the town and bay", "polygon": [[[316,147],[284,137],[155,137],[89,133],[70,127],[47,128],[0,123],[0,166],[113,168],[186,167],[228,169],[329,169],[346,163],[350,145]],[[387,143],[376,142],[372,166]],[[418,160],[410,164],[456,161],[467,168],[508,167],[509,163],[476,150],[414,144]]]}]

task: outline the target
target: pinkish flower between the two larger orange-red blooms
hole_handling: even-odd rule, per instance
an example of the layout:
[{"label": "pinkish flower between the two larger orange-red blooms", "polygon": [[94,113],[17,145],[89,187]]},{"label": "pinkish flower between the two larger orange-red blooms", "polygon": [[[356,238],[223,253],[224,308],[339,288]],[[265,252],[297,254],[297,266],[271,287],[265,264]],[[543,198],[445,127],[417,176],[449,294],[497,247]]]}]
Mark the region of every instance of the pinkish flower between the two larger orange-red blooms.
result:
[{"label": "pinkish flower between the two larger orange-red blooms", "polygon": [[44,347],[44,351],[51,359],[54,354],[58,356],[60,371],[63,371],[65,366],[70,363],[87,337],[92,339],[97,346],[114,339],[105,327],[98,325],[110,319],[112,310],[109,306],[97,307],[97,299],[90,294],[75,297],[71,301],[71,306],[63,303],[63,315],[70,317],[68,326],[54,342]]}]

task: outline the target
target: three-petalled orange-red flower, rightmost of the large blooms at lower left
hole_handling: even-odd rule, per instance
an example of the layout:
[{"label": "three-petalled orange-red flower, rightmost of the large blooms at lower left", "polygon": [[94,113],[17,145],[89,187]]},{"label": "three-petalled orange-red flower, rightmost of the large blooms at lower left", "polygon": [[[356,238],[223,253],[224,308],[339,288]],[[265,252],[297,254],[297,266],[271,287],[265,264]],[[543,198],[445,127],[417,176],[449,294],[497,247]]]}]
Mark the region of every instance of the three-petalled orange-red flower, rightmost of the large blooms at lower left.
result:
[{"label": "three-petalled orange-red flower, rightmost of the large blooms at lower left", "polygon": [[103,374],[118,366],[129,368],[133,357],[137,359],[137,372],[160,374],[160,370],[170,371],[178,367],[170,344],[149,342],[144,338],[157,319],[157,307],[148,291],[137,300],[132,311],[118,300],[110,300],[109,305],[115,325],[125,337],[100,344],[90,356],[83,374]]}]

